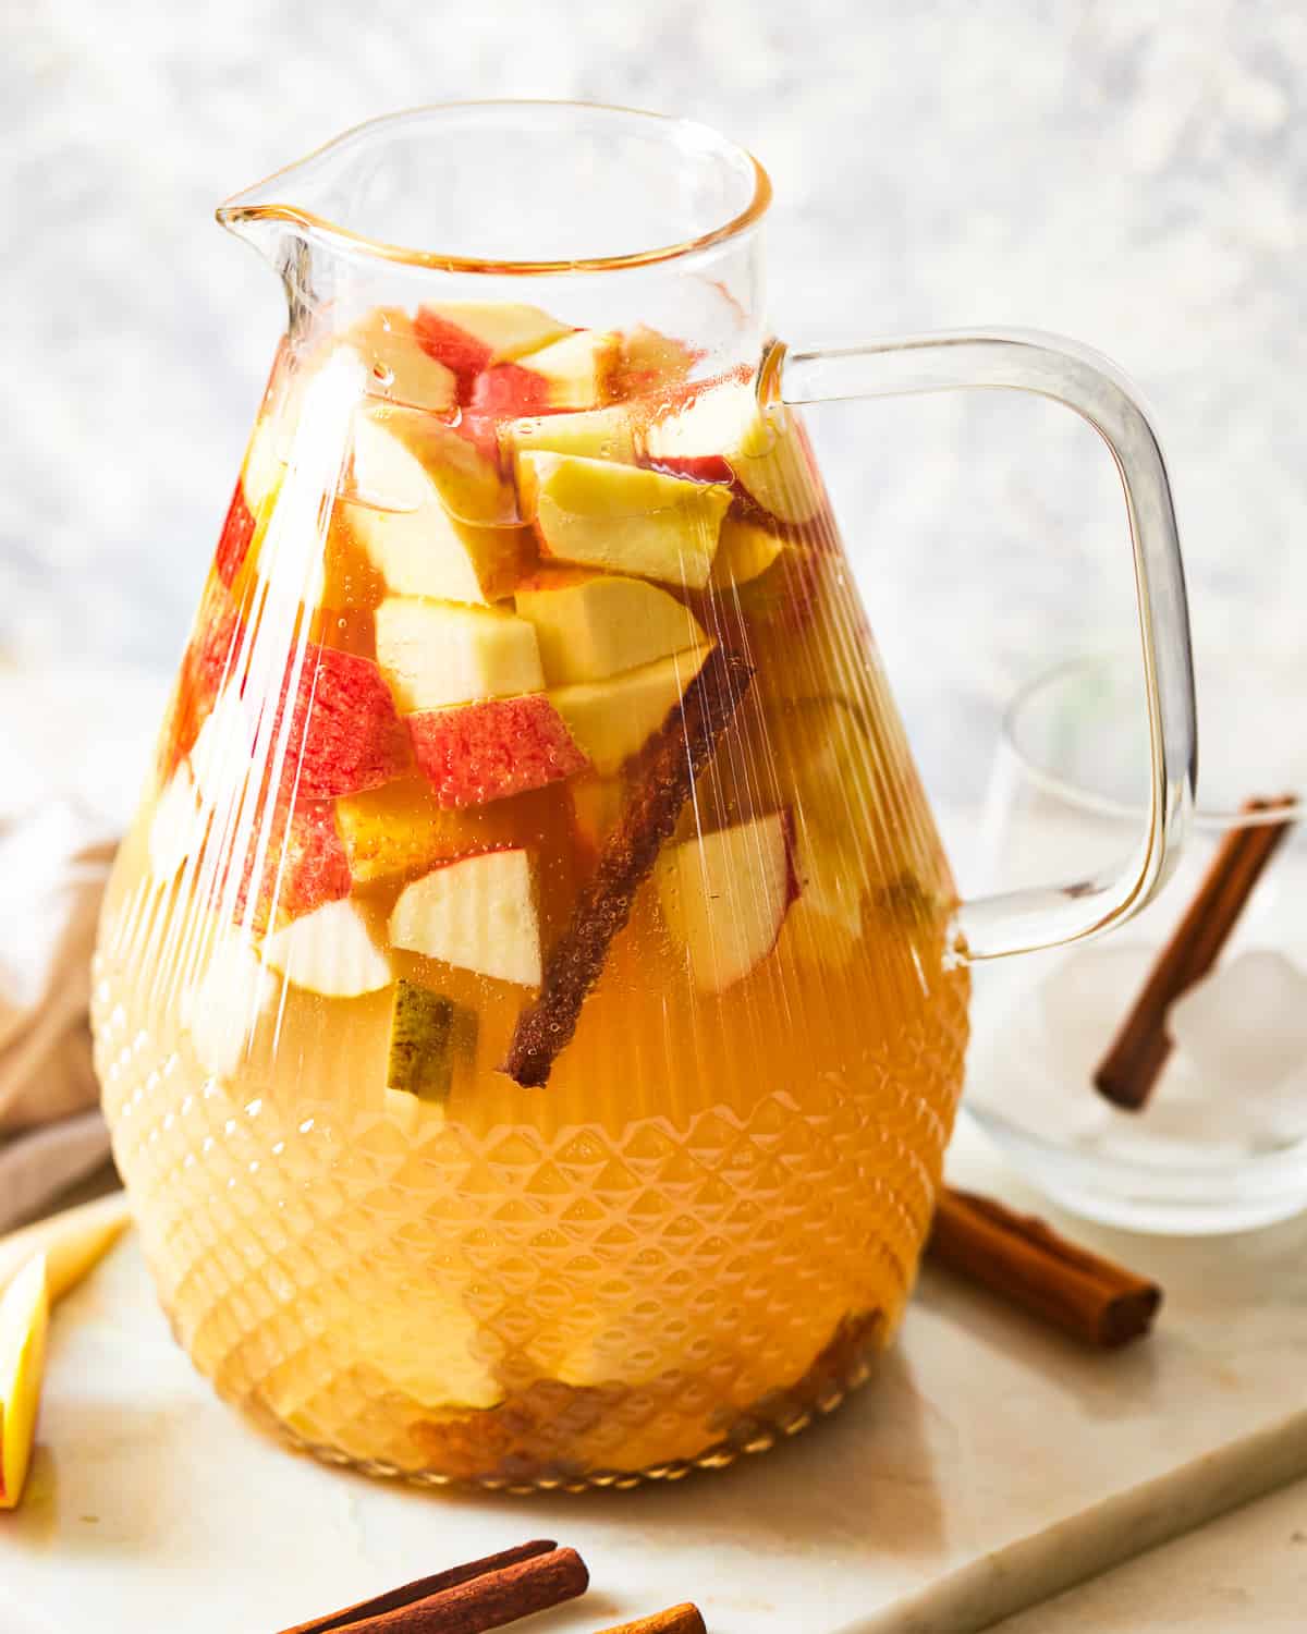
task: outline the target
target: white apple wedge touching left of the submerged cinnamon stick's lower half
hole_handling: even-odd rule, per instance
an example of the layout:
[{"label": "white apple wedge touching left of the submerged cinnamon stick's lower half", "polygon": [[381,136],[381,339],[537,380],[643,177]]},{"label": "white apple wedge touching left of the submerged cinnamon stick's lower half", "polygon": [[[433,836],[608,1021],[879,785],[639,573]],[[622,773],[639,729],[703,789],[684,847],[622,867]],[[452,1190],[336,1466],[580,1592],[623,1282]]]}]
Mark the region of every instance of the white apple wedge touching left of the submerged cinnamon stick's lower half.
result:
[{"label": "white apple wedge touching left of the submerged cinnamon stick's lower half", "polygon": [[515,846],[433,868],[400,892],[390,941],[500,982],[538,987],[541,928],[531,858]]}]

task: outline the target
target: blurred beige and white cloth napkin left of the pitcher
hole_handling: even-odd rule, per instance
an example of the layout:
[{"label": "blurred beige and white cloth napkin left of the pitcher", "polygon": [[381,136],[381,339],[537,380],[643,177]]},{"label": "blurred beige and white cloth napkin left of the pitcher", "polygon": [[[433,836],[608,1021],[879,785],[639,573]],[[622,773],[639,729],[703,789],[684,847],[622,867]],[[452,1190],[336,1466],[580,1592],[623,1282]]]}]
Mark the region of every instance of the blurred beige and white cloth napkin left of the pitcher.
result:
[{"label": "blurred beige and white cloth napkin left of the pitcher", "polygon": [[87,1005],[114,843],[72,799],[0,817],[0,1230],[109,1150]]}]

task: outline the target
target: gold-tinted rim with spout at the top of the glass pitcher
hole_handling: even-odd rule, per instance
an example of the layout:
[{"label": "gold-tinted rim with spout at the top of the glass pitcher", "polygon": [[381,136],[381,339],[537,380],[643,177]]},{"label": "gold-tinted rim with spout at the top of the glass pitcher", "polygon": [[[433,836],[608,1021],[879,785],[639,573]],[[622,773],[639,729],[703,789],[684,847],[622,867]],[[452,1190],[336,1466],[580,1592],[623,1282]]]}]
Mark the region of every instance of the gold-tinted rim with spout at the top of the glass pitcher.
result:
[{"label": "gold-tinted rim with spout at the top of the glass pitcher", "polygon": [[[312,163],[315,158],[333,152],[346,145],[348,142],[358,141],[361,136],[374,134],[384,131],[390,126],[405,124],[413,119],[428,118],[431,114],[456,113],[467,109],[575,109],[583,114],[613,114],[619,119],[631,123],[647,123],[650,126],[660,126],[670,134],[680,129],[685,134],[691,134],[696,144],[706,152],[716,152],[725,160],[730,160],[737,168],[753,176],[753,191],[742,211],[732,216],[729,221],[711,227],[707,232],[699,234],[694,239],[683,239],[676,243],[655,245],[652,248],[639,248],[624,252],[621,255],[604,255],[604,257],[580,257],[572,260],[554,260],[554,261],[505,261],[505,260],[482,260],[479,257],[467,255],[444,255],[439,250],[420,250],[402,243],[387,243],[382,239],[369,239],[364,234],[353,232],[343,227],[340,222],[328,221],[323,216],[317,216],[314,211],[304,209],[299,204],[291,204],[278,199],[260,199],[253,194],[266,193],[268,188],[274,186],[283,178],[294,175],[304,165]],[[234,193],[229,199],[219,204],[216,216],[224,227],[247,227],[255,222],[284,222],[292,227],[302,229],[306,234],[323,239],[335,243],[340,248],[353,250],[356,253],[364,253],[386,261],[399,261],[408,266],[423,266],[433,271],[444,273],[488,273],[500,276],[515,278],[531,278],[559,273],[616,273],[634,266],[655,266],[660,261],[673,261],[680,257],[694,255],[701,250],[707,250],[714,245],[725,243],[730,239],[738,239],[755,227],[768,211],[771,204],[771,178],[768,176],[763,165],[742,147],[738,142],[732,142],[729,137],[714,131],[712,126],[701,124],[698,119],[683,119],[678,114],[650,113],[644,108],[624,108],[618,103],[588,103],[588,101],[569,101],[569,100],[549,100],[549,98],[484,98],[472,101],[448,101],[448,103],[422,103],[417,108],[405,108],[399,113],[379,114],[374,119],[364,119],[361,124],[351,126],[348,131],[341,131],[340,136],[333,136],[328,142],[315,147],[312,152],[306,154],[302,158],[294,160],[289,165],[283,165],[271,175],[265,176],[263,181],[255,183],[250,188],[242,188],[240,193]]]}]

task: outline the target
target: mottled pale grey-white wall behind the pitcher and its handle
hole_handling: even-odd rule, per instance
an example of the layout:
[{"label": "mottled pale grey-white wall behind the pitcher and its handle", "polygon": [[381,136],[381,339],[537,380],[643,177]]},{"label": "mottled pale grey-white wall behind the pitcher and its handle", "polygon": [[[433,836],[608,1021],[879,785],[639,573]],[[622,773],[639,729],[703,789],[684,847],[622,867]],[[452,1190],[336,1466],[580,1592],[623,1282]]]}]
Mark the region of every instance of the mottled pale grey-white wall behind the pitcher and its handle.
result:
[{"label": "mottled pale grey-white wall behind the pitcher and its handle", "polygon": [[[1199,639],[1302,642],[1299,0],[7,0],[0,39],[11,654],[175,659],[279,324],[212,206],[358,119],[490,95],[758,152],[794,340],[1019,322],[1114,355],[1173,464]],[[928,775],[975,791],[1013,686],[1131,616],[1106,454],[993,395],[815,431]]]}]

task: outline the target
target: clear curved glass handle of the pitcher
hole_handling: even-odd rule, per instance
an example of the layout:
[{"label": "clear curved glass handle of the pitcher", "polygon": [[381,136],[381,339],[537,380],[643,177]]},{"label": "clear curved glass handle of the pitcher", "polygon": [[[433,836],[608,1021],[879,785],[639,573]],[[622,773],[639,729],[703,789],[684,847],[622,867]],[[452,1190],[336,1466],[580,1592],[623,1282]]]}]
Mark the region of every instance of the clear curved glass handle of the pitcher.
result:
[{"label": "clear curved glass handle of the pitcher", "polygon": [[1198,745],[1189,611],[1171,487],[1149,417],[1108,358],[1060,335],[1018,328],[941,330],[794,353],[778,343],[765,359],[760,395],[765,404],[802,407],[977,386],[1065,404],[1111,449],[1126,490],[1149,701],[1149,820],[1137,848],[1111,874],[964,902],[957,951],[967,959],[997,959],[1093,936],[1131,918],[1166,882],[1193,815]]}]

